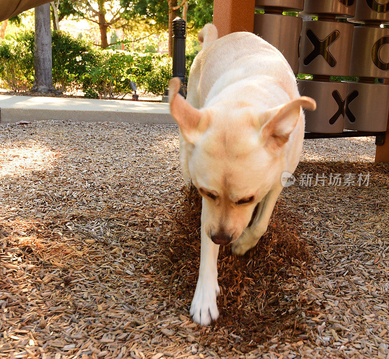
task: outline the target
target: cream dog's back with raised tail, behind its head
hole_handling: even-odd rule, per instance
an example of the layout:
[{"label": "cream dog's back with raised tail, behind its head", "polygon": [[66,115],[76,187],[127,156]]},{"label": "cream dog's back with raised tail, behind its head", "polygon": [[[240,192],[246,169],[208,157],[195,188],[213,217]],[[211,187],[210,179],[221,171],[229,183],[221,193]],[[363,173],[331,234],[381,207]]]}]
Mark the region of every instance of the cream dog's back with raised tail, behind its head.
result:
[{"label": "cream dog's back with raised tail, behind its head", "polygon": [[[189,76],[188,101],[192,105],[208,107],[213,102],[220,103],[220,98],[230,98],[226,91],[234,91],[237,100],[254,96],[257,101],[264,100],[270,108],[280,104],[280,96],[272,96],[269,86],[275,91],[280,88],[285,91],[285,102],[299,97],[295,76],[280,51],[248,32],[217,39],[216,28],[211,24],[207,26],[199,34],[203,49],[196,56]],[[239,93],[240,88],[245,92]]]}]

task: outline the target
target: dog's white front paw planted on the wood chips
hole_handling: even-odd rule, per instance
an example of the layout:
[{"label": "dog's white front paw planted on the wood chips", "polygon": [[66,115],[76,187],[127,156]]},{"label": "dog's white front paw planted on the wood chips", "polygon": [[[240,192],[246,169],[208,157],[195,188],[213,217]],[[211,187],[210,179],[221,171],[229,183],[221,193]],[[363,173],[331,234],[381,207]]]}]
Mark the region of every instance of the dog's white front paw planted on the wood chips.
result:
[{"label": "dog's white front paw planted on the wood chips", "polygon": [[190,314],[194,322],[200,325],[209,325],[219,316],[216,296],[220,294],[217,280],[198,280],[193,297]]}]

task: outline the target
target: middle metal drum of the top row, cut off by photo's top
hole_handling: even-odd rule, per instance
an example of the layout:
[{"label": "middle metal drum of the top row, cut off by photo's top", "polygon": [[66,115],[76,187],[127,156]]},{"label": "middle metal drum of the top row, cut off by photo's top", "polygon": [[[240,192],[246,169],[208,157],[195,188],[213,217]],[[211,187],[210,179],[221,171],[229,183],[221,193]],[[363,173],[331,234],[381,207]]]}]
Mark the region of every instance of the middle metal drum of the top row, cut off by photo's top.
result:
[{"label": "middle metal drum of the top row, cut off by photo's top", "polygon": [[355,0],[305,0],[306,15],[325,14],[334,17],[353,17],[355,14]]}]

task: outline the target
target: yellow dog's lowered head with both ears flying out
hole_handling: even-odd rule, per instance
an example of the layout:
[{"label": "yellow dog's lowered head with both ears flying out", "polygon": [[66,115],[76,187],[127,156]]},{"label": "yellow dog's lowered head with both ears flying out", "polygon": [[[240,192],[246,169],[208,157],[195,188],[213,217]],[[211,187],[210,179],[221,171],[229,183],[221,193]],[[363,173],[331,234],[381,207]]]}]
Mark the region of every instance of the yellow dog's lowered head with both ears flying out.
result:
[{"label": "yellow dog's lowered head with both ears flying out", "polygon": [[[245,106],[232,112],[222,106],[197,110],[178,94],[178,78],[169,85],[171,114],[188,143],[191,179],[203,197],[201,221],[213,242],[228,244],[248,226],[275,181],[281,181],[283,147],[302,116],[301,107],[314,110],[316,103],[300,97],[262,114]],[[222,126],[213,121],[221,117]]]}]

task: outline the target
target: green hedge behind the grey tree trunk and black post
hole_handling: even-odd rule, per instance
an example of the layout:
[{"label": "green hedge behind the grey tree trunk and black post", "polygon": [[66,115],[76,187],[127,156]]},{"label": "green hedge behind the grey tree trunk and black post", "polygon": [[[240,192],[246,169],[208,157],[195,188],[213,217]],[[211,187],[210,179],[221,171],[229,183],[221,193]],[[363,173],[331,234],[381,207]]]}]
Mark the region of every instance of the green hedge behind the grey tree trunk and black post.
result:
[{"label": "green hedge behind the grey tree trunk and black post", "polygon": [[[96,50],[80,38],[62,31],[52,33],[53,84],[61,91],[82,89],[88,98],[113,99],[138,88],[163,94],[172,75],[172,59],[157,53]],[[195,54],[186,56],[186,80]],[[34,83],[34,32],[0,41],[0,81],[13,91]]]}]

